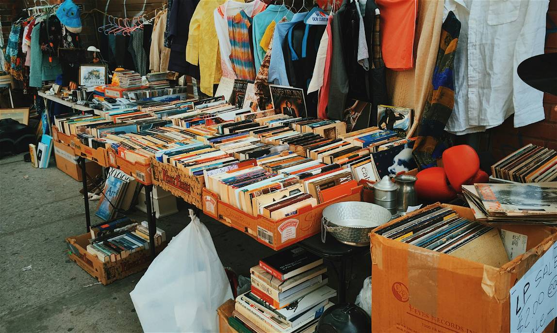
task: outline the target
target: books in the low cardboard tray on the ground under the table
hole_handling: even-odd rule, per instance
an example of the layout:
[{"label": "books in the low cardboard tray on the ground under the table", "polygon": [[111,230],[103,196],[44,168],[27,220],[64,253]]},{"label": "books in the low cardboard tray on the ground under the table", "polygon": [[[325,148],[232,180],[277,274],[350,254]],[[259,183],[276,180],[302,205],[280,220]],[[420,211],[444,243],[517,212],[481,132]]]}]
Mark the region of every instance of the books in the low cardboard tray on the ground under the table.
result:
[{"label": "books in the low cardboard tray on the ground under the table", "polygon": [[[115,262],[140,250],[149,248],[149,225],[135,223],[129,217],[91,226],[91,240],[87,252],[101,262]],[[155,246],[166,241],[166,233],[157,228]]]}]

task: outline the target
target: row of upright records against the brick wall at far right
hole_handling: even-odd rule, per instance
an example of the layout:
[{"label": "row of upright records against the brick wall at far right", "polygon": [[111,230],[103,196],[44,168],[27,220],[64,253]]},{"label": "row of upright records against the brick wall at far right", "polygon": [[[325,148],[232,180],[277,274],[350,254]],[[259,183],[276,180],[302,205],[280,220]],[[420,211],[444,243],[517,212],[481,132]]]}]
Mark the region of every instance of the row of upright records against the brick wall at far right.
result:
[{"label": "row of upright records against the brick wall at far right", "polygon": [[526,145],[491,166],[491,181],[536,183],[557,180],[557,152]]}]

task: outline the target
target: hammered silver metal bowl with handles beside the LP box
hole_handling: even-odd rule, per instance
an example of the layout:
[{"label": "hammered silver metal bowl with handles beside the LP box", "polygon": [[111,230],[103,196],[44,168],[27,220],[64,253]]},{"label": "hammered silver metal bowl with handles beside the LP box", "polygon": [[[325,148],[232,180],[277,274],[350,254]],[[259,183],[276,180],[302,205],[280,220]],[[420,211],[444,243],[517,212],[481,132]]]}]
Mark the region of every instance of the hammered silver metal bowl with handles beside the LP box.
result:
[{"label": "hammered silver metal bowl with handles beside the LP box", "polygon": [[323,210],[321,240],[330,232],[339,242],[353,246],[369,245],[369,233],[389,222],[390,212],[369,202],[346,201],[333,203]]}]

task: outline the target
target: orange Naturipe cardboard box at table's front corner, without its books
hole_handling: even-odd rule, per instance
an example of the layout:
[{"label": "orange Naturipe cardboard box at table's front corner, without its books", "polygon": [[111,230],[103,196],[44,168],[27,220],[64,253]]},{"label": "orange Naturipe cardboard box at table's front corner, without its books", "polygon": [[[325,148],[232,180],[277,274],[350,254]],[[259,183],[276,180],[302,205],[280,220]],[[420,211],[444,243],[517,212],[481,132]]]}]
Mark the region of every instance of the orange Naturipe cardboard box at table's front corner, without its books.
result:
[{"label": "orange Naturipe cardboard box at table's front corner, without its books", "polygon": [[349,193],[315,207],[304,207],[296,215],[278,221],[263,216],[253,216],[219,200],[218,195],[203,188],[203,212],[227,226],[246,232],[258,242],[280,250],[307,237],[319,233],[321,217],[325,207],[344,201],[360,201],[362,186],[356,186]]}]

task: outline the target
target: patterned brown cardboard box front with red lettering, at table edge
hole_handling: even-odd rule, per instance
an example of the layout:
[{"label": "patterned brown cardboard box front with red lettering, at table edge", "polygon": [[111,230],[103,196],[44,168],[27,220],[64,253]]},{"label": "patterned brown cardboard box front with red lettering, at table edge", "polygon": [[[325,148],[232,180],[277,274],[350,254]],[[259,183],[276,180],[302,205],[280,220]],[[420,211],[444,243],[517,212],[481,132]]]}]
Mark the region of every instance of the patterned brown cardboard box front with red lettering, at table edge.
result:
[{"label": "patterned brown cardboard box front with red lettering, at table edge", "polygon": [[201,196],[205,187],[203,176],[186,175],[180,168],[151,159],[153,184],[158,185],[192,205],[203,208]]}]

